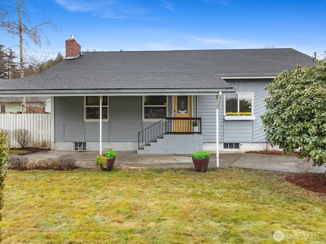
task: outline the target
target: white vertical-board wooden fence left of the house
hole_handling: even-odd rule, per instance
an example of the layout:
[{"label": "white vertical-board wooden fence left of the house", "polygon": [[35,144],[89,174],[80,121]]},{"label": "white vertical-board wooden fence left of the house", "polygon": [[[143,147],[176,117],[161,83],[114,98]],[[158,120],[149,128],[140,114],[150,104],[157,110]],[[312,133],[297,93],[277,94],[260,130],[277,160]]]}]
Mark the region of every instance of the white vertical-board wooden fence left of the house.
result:
[{"label": "white vertical-board wooden fence left of the house", "polygon": [[[12,132],[15,129],[29,130],[32,142],[28,146],[50,148],[51,114],[49,113],[6,113],[0,114],[0,129]],[[20,147],[10,133],[8,147]]]}]

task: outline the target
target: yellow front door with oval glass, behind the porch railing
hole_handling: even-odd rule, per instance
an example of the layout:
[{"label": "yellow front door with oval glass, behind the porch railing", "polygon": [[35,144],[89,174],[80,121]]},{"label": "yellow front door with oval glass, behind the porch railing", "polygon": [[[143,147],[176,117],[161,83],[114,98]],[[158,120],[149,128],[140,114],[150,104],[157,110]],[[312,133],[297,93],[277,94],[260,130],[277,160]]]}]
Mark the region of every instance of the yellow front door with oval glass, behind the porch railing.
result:
[{"label": "yellow front door with oval glass, behind the porch railing", "polygon": [[174,120],[174,132],[191,132],[191,119],[182,118],[192,117],[192,96],[174,96],[173,97],[173,116],[179,119]]}]

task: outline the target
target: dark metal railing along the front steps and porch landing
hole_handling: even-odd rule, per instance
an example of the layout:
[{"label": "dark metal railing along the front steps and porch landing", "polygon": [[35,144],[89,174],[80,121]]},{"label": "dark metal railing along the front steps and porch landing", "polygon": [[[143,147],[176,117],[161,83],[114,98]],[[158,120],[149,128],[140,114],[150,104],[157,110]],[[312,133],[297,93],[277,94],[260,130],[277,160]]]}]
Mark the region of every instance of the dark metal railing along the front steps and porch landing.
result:
[{"label": "dark metal railing along the front steps and porch landing", "polygon": [[201,134],[201,117],[167,117],[138,132],[138,149],[165,134]]}]

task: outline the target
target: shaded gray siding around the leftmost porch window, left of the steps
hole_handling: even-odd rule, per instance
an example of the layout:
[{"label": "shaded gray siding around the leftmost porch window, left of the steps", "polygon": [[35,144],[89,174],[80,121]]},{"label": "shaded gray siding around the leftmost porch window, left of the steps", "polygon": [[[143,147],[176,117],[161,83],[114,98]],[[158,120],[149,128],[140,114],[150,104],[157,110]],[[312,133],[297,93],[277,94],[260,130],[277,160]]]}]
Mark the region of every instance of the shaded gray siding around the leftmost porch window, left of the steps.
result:
[{"label": "shaded gray siding around the leftmost porch window, left of the steps", "polygon": [[[142,130],[142,97],[109,97],[109,121],[102,141],[137,142]],[[99,141],[99,122],[84,120],[84,97],[55,98],[55,141]]]}]

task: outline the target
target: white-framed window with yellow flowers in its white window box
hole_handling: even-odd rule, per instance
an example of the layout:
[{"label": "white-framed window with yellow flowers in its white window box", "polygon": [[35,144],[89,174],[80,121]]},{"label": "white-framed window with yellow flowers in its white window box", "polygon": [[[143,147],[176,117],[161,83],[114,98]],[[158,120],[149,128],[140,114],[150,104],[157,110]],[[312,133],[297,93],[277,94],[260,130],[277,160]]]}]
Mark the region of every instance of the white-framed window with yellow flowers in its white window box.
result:
[{"label": "white-framed window with yellow flowers in its white window box", "polygon": [[253,120],[253,93],[235,93],[224,97],[225,119]]}]

